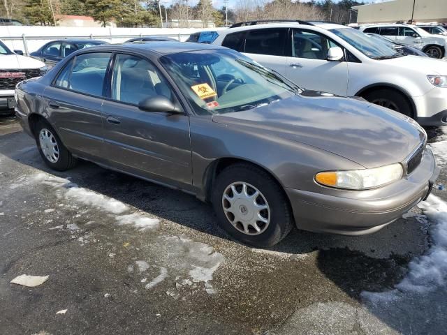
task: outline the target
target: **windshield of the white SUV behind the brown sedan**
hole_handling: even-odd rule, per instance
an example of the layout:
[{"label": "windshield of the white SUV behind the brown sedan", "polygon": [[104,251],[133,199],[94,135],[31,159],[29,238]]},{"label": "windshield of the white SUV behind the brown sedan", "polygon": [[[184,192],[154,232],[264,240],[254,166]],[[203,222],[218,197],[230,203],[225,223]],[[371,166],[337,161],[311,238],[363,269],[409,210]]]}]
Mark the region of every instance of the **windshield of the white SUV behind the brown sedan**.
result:
[{"label": "windshield of the white SUV behind the brown sedan", "polygon": [[330,31],[369,58],[390,59],[402,57],[402,54],[396,52],[392,47],[388,47],[385,43],[379,43],[370,36],[367,36],[356,29],[340,28],[330,29]]}]

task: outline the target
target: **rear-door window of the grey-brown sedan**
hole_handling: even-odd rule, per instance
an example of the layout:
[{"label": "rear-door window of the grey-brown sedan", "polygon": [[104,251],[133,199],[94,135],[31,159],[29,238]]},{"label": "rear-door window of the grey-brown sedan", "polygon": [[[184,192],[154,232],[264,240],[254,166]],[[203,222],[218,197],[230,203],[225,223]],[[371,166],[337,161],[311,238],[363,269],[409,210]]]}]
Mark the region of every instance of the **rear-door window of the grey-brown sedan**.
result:
[{"label": "rear-door window of the grey-brown sedan", "polygon": [[108,52],[92,52],[76,56],[61,70],[55,85],[93,96],[103,96],[105,72],[110,57],[111,54]]}]

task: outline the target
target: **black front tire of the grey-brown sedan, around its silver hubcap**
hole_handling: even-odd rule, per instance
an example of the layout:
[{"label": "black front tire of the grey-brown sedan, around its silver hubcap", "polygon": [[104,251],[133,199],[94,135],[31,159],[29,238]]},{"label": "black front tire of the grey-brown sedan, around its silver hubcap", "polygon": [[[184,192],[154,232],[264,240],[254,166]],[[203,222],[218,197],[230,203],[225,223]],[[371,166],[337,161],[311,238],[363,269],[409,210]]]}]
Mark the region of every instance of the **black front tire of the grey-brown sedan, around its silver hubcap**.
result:
[{"label": "black front tire of the grey-brown sedan, around its silver hubcap", "polygon": [[[246,193],[243,192],[244,184],[247,186]],[[234,186],[237,194],[233,193],[231,186]],[[259,195],[254,194],[256,191]],[[223,198],[224,195],[226,198]],[[293,228],[292,211],[284,190],[270,174],[249,163],[230,165],[217,176],[212,190],[212,204],[221,228],[231,237],[251,246],[273,246],[284,239]],[[268,209],[260,211],[260,208],[265,206]],[[259,218],[258,213],[264,220],[254,223],[259,231],[247,220]],[[234,223],[231,223],[230,219]],[[246,220],[245,225],[242,220]],[[265,220],[268,223],[265,223]]]}]

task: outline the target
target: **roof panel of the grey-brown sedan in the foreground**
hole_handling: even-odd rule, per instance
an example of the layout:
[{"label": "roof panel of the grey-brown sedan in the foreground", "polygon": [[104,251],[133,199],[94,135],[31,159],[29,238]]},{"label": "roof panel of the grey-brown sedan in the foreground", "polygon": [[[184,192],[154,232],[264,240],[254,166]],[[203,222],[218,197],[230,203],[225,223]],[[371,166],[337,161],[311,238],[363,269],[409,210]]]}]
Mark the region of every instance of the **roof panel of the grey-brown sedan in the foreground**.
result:
[{"label": "roof panel of the grey-brown sedan in the foreground", "polygon": [[98,45],[95,47],[89,47],[86,50],[92,51],[134,51],[140,54],[156,53],[160,55],[165,54],[177,54],[178,52],[190,52],[198,50],[225,50],[226,47],[221,47],[219,45],[209,45],[203,43],[186,43],[177,41],[154,41],[152,43],[123,43],[119,45]]}]

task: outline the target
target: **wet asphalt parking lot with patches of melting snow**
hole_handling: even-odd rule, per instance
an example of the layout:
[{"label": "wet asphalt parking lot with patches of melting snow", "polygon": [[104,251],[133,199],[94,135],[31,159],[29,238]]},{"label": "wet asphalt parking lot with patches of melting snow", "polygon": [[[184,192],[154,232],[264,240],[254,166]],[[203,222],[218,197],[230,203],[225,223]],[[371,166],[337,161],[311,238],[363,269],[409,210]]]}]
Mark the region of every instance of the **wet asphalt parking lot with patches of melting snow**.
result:
[{"label": "wet asphalt parking lot with patches of melting snow", "polygon": [[[442,167],[447,135],[429,135]],[[0,189],[1,334],[446,334],[441,189],[372,235],[254,249],[191,195],[85,161],[49,170],[13,118]]]}]

